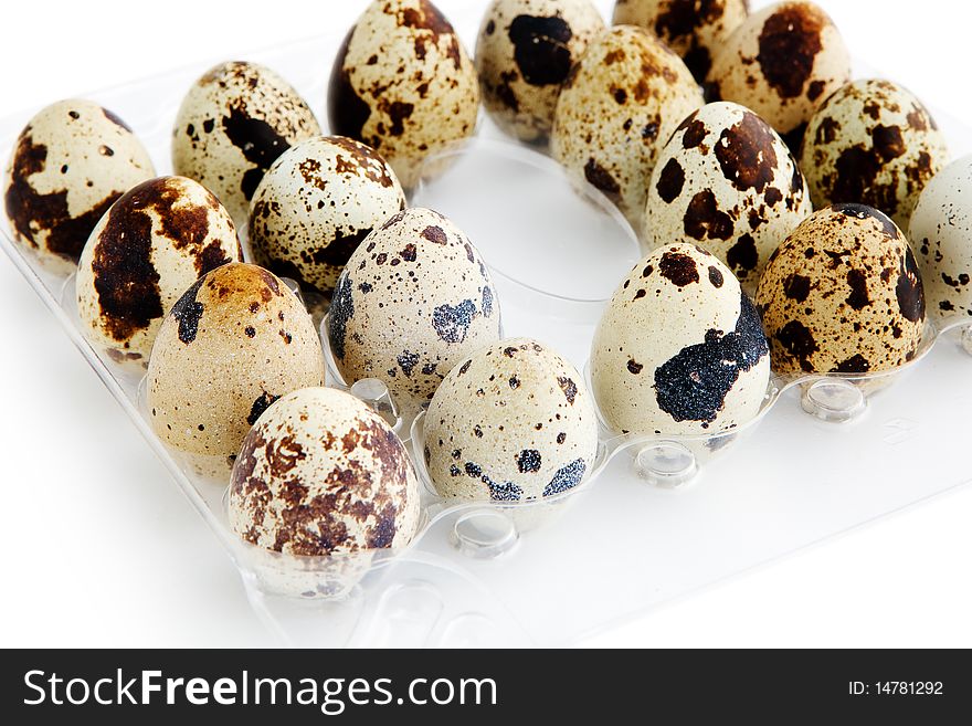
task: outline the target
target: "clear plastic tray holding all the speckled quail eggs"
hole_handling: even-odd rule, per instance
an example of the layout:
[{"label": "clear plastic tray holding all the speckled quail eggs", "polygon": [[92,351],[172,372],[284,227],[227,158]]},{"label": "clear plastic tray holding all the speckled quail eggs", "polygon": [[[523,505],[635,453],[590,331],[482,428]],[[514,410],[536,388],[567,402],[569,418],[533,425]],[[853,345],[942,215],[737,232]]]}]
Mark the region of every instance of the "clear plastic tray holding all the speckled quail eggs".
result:
[{"label": "clear plastic tray holding all the speckled quail eggs", "polygon": [[[473,31],[478,7],[453,18]],[[324,113],[344,29],[243,57],[288,78]],[[463,32],[469,44],[472,32]],[[216,59],[222,60],[222,59]],[[131,125],[169,172],[184,91],[205,65],[87,94]],[[860,73],[857,74],[862,75]],[[9,154],[30,117],[0,122]],[[972,138],[936,115],[953,157]],[[506,336],[547,343],[585,369],[615,286],[643,251],[626,222],[559,167],[484,118],[476,139],[411,194],[463,229],[489,263]],[[374,381],[351,392],[397,425],[423,491],[423,527],[401,551],[294,558],[251,547],[228,526],[225,484],[197,476],[152,434],[140,378],[84,340],[74,281],[52,276],[10,240],[13,263],[61,322],[236,564],[256,612],[283,644],[564,644],[747,569],[972,481],[972,330],[929,324],[906,369],[870,377],[774,379],[759,417],[695,438],[613,436],[575,490],[542,502],[462,504],[427,484],[421,412]],[[326,337],[325,337],[326,346]],[[327,354],[327,350],[325,350]],[[344,387],[332,366],[329,385]],[[418,453],[418,455],[414,455]]]}]

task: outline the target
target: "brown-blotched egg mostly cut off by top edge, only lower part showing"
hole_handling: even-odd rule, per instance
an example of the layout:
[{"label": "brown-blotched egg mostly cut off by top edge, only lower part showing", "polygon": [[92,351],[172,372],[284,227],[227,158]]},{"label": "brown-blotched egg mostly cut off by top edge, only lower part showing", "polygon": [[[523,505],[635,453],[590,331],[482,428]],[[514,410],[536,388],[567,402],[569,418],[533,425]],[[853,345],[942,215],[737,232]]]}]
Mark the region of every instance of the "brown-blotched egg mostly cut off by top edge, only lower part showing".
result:
[{"label": "brown-blotched egg mostly cut off by top edge, only lower part showing", "polygon": [[617,0],[615,25],[641,25],[678,53],[699,83],[749,14],[749,0]]}]

